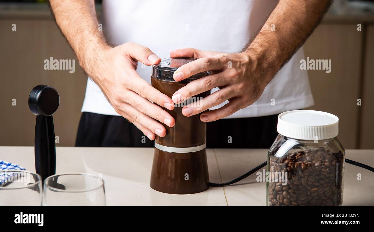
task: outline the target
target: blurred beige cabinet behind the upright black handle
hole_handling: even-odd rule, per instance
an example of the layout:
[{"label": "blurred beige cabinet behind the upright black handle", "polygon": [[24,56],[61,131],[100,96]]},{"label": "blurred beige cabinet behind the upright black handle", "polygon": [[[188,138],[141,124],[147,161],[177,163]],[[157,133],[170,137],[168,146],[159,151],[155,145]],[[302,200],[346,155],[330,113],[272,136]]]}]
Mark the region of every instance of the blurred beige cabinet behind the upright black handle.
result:
[{"label": "blurred beige cabinet behind the upright black handle", "polygon": [[[16,31],[11,30],[12,24]],[[55,135],[59,136],[56,145],[74,146],[87,76],[55,22],[49,18],[0,19],[0,31],[0,145],[34,145],[36,116],[28,108],[28,95],[38,84],[46,84],[60,95],[60,106],[53,114]],[[75,59],[75,72],[44,70],[44,60],[50,57]]]}]

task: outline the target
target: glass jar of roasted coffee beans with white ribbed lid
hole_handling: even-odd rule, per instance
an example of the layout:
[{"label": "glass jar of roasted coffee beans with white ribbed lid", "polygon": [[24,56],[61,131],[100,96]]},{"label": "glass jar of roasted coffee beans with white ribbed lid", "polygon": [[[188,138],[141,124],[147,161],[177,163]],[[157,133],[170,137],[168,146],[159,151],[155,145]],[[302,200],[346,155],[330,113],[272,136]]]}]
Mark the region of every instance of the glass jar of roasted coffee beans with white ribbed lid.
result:
[{"label": "glass jar of roasted coffee beans with white ribbed lid", "polygon": [[345,151],[338,118],[288,111],[278,116],[278,133],[268,153],[267,205],[341,205]]}]

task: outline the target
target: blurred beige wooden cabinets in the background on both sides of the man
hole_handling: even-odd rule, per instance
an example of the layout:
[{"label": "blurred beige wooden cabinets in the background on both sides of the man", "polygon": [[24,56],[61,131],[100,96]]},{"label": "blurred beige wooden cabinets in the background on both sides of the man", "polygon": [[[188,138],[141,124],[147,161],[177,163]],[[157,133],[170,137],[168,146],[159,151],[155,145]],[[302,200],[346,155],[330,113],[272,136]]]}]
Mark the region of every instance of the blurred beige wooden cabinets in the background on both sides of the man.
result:
[{"label": "blurred beige wooden cabinets in the background on both sides of the man", "polygon": [[[16,31],[11,30],[12,24]],[[356,22],[322,23],[304,46],[310,59],[331,59],[331,73],[309,70],[315,99],[310,109],[340,118],[339,139],[346,149],[374,148],[374,26],[363,27],[365,33],[357,31]],[[55,22],[47,16],[0,17],[0,31],[0,145],[34,145],[35,116],[28,109],[28,95],[37,84],[47,84],[60,94],[60,106],[53,115],[57,146],[74,146],[87,80],[77,60],[74,73],[43,69],[43,61],[50,57],[75,59]],[[362,106],[357,105],[359,98]]]}]

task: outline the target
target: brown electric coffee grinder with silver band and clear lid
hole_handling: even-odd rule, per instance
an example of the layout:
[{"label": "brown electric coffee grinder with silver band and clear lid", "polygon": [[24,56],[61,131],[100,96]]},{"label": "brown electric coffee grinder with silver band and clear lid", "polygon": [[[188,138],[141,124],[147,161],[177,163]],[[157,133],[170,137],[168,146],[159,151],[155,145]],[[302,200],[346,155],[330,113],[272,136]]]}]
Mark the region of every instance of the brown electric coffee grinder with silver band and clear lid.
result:
[{"label": "brown electric coffee grinder with silver band and clear lid", "polygon": [[[166,58],[152,67],[152,86],[169,96],[193,80],[209,75],[202,72],[183,81],[175,81],[173,74],[180,66],[193,58]],[[168,194],[194,194],[209,188],[208,164],[206,160],[206,123],[200,114],[186,117],[182,114],[185,105],[199,107],[199,100],[210,94],[210,90],[175,104],[172,111],[163,108],[175,119],[175,126],[166,129],[165,137],[156,136],[150,186]]]}]

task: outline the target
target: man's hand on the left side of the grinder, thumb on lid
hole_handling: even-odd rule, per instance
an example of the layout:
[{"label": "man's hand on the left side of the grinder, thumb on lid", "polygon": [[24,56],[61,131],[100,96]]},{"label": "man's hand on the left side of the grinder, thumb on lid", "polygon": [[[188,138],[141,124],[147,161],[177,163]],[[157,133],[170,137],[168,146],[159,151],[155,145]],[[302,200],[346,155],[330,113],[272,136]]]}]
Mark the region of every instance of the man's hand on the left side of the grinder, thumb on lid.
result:
[{"label": "man's hand on the left side of the grinder, thumb on lid", "polygon": [[161,59],[147,47],[132,42],[95,49],[88,56],[81,65],[85,66],[85,71],[101,88],[114,110],[134,123],[149,139],[153,140],[155,134],[165,136],[165,127],[159,121],[173,127],[175,120],[160,106],[172,110],[174,103],[136,71],[138,61],[153,65]]}]

